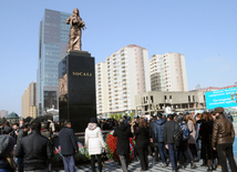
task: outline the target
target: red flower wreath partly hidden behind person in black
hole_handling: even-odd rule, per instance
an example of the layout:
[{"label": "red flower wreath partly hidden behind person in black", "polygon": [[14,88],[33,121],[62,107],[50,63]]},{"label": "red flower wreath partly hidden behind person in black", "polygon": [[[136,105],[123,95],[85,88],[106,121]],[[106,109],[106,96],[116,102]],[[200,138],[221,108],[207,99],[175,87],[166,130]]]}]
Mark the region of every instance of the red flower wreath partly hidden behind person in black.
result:
[{"label": "red flower wreath partly hidden behind person in black", "polygon": [[[120,161],[120,156],[116,154],[117,138],[113,136],[114,131],[111,131],[106,135],[106,150],[107,158],[114,161]],[[135,141],[130,138],[130,162],[134,160],[135,156]]]}]

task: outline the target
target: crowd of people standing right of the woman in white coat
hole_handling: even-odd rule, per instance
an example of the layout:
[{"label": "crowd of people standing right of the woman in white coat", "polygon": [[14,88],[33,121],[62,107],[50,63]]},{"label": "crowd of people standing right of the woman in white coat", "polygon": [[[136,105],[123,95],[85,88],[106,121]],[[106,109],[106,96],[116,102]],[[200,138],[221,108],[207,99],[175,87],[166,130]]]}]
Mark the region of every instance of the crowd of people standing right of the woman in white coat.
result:
[{"label": "crowd of people standing right of the woman in white coat", "polygon": [[141,161],[141,171],[148,170],[148,154],[153,155],[159,165],[172,165],[173,171],[178,171],[190,165],[195,169],[196,162],[203,160],[202,166],[207,171],[221,168],[228,172],[227,160],[230,170],[237,171],[234,160],[233,143],[235,131],[233,118],[223,108],[216,108],[213,112],[179,113],[151,117],[144,115],[134,121],[126,118],[118,121],[114,136],[117,136],[117,150],[122,169],[127,171],[128,165],[128,138],[135,138],[136,155]]}]

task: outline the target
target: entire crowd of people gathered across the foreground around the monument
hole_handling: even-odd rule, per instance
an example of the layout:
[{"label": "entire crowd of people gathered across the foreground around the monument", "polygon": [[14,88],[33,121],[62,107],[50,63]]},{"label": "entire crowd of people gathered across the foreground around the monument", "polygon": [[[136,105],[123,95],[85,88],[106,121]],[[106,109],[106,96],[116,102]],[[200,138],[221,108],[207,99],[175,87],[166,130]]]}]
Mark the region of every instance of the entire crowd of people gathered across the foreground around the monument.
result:
[{"label": "entire crowd of people gathered across the foreground around the monument", "polygon": [[[52,121],[29,124],[20,120],[13,125],[6,122],[0,132],[0,171],[50,171],[52,133],[59,131],[56,128]],[[223,108],[216,108],[213,112],[174,113],[167,117],[157,112],[150,120],[145,115],[133,121],[124,117],[118,122],[92,118],[85,129],[84,144],[91,156],[93,172],[96,158],[99,171],[102,172],[101,156],[106,151],[102,130],[114,130],[116,153],[124,172],[128,171],[130,138],[135,139],[135,159],[141,162],[141,171],[148,170],[148,155],[158,161],[162,168],[171,165],[174,172],[188,168],[188,164],[190,169],[198,168],[196,162],[200,160],[207,171],[220,166],[223,172],[228,172],[227,160],[231,172],[237,171],[233,153],[235,131],[231,119],[225,115]],[[64,121],[59,140],[64,170],[74,172],[74,154],[79,152],[79,146],[70,121]]]}]

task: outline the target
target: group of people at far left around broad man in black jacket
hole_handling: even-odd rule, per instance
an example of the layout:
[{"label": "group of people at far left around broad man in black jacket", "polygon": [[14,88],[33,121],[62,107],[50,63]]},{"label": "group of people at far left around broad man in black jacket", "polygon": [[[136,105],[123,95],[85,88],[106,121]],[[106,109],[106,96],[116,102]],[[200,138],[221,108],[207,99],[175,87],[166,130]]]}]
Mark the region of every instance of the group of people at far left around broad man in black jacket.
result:
[{"label": "group of people at far left around broad man in black jacket", "polygon": [[53,131],[51,120],[29,124],[20,119],[19,123],[1,124],[0,171],[48,171],[53,156]]}]

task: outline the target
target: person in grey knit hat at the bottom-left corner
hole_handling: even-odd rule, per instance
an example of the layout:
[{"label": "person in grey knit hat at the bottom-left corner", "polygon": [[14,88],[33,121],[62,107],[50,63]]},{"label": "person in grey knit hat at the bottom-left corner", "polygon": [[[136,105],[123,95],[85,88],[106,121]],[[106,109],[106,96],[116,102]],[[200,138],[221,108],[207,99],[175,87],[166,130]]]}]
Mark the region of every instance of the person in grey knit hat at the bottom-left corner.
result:
[{"label": "person in grey knit hat at the bottom-left corner", "polygon": [[11,135],[0,135],[0,171],[14,172],[16,163],[13,160],[16,141]]}]

